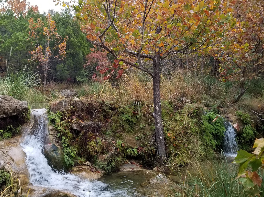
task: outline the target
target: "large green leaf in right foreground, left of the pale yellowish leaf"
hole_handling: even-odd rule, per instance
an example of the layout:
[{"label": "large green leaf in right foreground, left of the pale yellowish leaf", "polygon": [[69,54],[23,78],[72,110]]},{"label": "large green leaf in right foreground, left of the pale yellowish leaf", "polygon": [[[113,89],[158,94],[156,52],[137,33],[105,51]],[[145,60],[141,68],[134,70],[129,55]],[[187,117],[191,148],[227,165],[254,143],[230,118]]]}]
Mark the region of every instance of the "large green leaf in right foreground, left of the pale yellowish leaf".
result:
[{"label": "large green leaf in right foreground, left of the pale yellowish leaf", "polygon": [[253,154],[250,154],[244,150],[237,151],[237,156],[235,157],[234,163],[239,164],[238,176],[240,176],[239,174],[242,174],[248,167],[248,163],[252,160],[253,156]]}]

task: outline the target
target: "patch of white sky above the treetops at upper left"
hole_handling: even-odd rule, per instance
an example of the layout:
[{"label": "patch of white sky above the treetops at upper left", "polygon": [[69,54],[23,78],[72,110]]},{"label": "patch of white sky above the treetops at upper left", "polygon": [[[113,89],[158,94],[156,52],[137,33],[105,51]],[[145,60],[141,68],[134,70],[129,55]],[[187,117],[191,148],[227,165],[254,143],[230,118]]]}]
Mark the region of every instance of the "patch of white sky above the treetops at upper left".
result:
[{"label": "patch of white sky above the treetops at upper left", "polygon": [[37,5],[39,7],[39,12],[48,12],[49,9],[54,9],[54,11],[60,11],[64,9],[60,3],[55,6],[56,2],[53,0],[27,0],[31,5]]}]

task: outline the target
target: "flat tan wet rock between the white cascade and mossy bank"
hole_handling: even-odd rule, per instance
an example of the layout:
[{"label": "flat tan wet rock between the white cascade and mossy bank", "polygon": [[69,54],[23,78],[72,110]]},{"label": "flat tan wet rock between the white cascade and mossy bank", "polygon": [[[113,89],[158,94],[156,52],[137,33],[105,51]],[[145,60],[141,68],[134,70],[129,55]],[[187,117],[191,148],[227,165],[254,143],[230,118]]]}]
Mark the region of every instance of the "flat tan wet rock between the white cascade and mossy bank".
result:
[{"label": "flat tan wet rock between the white cascade and mossy bank", "polygon": [[104,173],[102,170],[96,170],[91,166],[75,166],[72,170],[72,174],[88,180],[100,179]]}]

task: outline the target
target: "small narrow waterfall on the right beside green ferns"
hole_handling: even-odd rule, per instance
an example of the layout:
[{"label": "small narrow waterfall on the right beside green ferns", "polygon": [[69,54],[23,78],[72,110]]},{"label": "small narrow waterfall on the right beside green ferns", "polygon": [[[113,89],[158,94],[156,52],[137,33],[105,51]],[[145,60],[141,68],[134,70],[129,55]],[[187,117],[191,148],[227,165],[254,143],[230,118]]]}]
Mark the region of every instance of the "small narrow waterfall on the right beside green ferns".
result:
[{"label": "small narrow waterfall on the right beside green ferns", "polygon": [[225,121],[225,133],[224,133],[224,154],[225,156],[235,157],[237,156],[237,142],[235,141],[237,134],[234,127],[230,122]]}]

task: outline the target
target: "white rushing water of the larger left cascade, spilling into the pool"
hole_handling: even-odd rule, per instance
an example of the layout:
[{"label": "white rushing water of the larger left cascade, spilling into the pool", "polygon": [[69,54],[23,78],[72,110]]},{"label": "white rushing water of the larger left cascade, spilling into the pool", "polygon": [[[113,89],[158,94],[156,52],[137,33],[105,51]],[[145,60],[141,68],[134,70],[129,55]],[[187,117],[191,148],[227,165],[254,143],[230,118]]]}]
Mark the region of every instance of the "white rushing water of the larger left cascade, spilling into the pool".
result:
[{"label": "white rushing water of the larger left cascade, spilling into the pool", "polygon": [[69,173],[55,172],[43,154],[47,116],[45,109],[32,110],[34,126],[28,132],[21,146],[26,153],[26,164],[30,183],[35,186],[65,191],[78,197],[127,196],[125,191],[113,191],[100,181],[88,181]]}]

